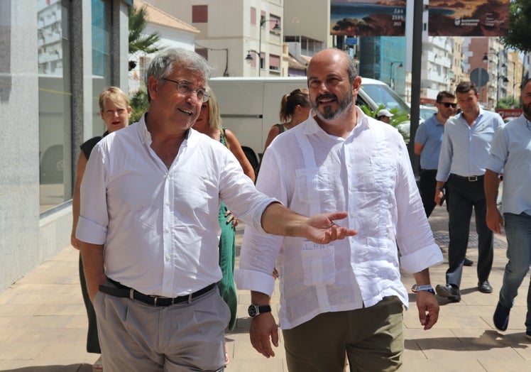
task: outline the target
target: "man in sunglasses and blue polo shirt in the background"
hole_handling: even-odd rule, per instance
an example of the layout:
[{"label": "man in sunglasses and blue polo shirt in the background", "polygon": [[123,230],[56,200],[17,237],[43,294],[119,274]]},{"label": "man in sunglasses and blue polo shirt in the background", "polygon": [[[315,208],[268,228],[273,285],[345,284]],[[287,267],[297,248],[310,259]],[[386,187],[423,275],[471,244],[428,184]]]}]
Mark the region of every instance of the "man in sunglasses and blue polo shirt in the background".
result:
[{"label": "man in sunglasses and blue polo shirt in the background", "polygon": [[456,97],[451,92],[442,91],[437,94],[437,114],[417,128],[415,135],[415,154],[420,155],[420,182],[419,191],[426,217],[432,214],[435,207],[433,190],[437,184],[437,165],[439,165],[439,153],[441,152],[442,135],[444,124],[456,109]]}]

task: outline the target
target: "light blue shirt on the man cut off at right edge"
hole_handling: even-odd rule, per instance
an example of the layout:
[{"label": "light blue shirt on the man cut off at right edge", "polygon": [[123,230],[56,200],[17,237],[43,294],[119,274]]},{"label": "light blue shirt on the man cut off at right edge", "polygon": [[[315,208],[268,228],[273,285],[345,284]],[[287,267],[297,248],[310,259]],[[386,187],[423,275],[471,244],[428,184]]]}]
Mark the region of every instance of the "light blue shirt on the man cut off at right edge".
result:
[{"label": "light blue shirt on the man cut off at right edge", "polygon": [[496,132],[487,169],[503,171],[502,212],[531,215],[531,122],[525,116]]}]

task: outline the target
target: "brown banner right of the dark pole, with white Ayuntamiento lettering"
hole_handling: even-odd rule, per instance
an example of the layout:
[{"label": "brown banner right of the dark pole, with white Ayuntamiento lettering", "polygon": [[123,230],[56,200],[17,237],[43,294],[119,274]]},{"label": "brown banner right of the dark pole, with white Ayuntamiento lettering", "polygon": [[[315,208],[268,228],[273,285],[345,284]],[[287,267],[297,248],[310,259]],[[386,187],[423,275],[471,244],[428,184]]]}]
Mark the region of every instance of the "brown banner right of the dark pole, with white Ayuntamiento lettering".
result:
[{"label": "brown banner right of the dark pole, with white Ayuntamiento lettering", "polygon": [[510,0],[429,0],[430,36],[505,36]]}]

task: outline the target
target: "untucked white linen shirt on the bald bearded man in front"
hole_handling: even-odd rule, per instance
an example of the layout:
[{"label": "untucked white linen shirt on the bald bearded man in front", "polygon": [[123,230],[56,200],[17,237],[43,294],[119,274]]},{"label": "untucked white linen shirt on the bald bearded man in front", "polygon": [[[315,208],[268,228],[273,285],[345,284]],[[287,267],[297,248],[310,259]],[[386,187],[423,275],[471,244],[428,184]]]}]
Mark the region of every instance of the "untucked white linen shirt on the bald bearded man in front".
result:
[{"label": "untucked white linen shirt on the bald bearded man in front", "polygon": [[358,231],[318,246],[246,227],[236,285],[270,295],[276,266],[283,329],[386,296],[397,295],[407,306],[396,242],[403,268],[412,273],[442,263],[403,138],[356,110],[358,123],[347,138],[325,133],[310,116],[265,152],[258,190],[300,214],[347,211],[336,224]]}]

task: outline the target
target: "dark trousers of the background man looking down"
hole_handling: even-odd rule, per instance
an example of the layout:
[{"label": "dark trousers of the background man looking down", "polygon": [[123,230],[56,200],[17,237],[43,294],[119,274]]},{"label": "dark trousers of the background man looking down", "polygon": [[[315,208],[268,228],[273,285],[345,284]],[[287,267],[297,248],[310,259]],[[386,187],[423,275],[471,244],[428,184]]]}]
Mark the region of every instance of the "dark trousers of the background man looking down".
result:
[{"label": "dark trousers of the background man looking down", "polygon": [[469,244],[472,209],[476,214],[476,232],[478,233],[478,281],[482,283],[488,280],[493,262],[493,232],[486,224],[487,208],[483,177],[476,182],[470,182],[450,175],[446,187],[451,194],[448,201],[450,243],[447,283],[456,285],[458,288],[461,285],[466,246]]}]

